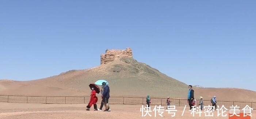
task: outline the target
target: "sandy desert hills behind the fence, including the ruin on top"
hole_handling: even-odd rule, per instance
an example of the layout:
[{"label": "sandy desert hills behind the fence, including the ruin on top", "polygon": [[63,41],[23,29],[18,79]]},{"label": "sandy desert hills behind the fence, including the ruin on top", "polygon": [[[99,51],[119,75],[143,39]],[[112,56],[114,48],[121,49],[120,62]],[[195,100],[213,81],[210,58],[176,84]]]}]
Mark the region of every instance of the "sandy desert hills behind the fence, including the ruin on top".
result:
[{"label": "sandy desert hills behind the fence, including the ruin on top", "polygon": [[[111,96],[151,95],[186,98],[188,85],[159,72],[132,57],[131,49],[106,50],[100,65],[91,69],[70,70],[56,76],[32,81],[0,80],[1,94],[89,95],[89,83],[106,79]],[[256,92],[244,89],[194,88],[195,98],[216,95],[219,99],[256,100]]]}]

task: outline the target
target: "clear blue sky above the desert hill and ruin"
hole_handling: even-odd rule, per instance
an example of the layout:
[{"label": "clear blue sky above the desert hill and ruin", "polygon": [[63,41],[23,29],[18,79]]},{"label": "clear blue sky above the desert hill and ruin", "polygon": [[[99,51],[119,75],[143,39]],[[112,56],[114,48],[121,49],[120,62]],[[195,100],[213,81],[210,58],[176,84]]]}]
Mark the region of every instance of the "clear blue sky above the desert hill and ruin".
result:
[{"label": "clear blue sky above the desert hill and ruin", "polygon": [[0,79],[100,64],[106,49],[188,85],[256,91],[256,0],[1,0]]}]

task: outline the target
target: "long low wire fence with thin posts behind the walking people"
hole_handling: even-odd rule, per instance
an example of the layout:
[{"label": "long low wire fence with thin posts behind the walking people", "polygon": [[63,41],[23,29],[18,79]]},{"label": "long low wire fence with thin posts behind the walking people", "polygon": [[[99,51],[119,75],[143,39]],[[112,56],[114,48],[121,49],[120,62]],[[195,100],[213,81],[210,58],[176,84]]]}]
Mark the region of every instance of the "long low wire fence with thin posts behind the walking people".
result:
[{"label": "long low wire fence with thin posts behind the walking people", "polygon": [[[29,96],[29,95],[0,95],[0,102],[7,103],[43,103],[43,104],[88,104],[90,96]],[[166,98],[151,98],[152,103],[150,105],[166,106]],[[188,106],[187,99],[170,99],[172,106]],[[212,106],[210,100],[203,100],[204,106]],[[98,97],[98,103],[101,103],[101,98]],[[142,97],[110,97],[109,104],[130,104],[130,105],[145,105],[146,98]],[[240,109],[245,106],[256,108],[256,102],[244,102],[244,101],[225,101],[217,100],[217,105],[222,105],[226,108],[238,106]],[[198,100],[196,101],[198,106]]]}]

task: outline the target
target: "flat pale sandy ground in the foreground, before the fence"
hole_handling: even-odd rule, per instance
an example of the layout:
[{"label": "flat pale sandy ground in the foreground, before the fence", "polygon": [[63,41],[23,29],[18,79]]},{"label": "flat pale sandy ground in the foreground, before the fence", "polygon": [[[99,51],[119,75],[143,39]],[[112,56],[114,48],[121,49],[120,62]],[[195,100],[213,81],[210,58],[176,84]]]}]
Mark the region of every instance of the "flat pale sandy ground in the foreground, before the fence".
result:
[{"label": "flat pale sandy ground in the foreground, before the fence", "polygon": [[[93,107],[91,111],[86,111],[85,106],[85,104],[0,103],[0,119],[228,119],[228,116],[217,116],[217,111],[213,112],[213,116],[205,116],[203,111],[200,117],[199,114],[193,117],[191,111],[188,111],[189,107],[185,108],[183,116],[184,107],[176,107],[177,111],[173,117],[171,117],[173,114],[168,114],[168,111],[163,112],[163,117],[156,111],[156,117],[154,117],[153,105],[151,106],[152,112],[149,112],[151,116],[145,115],[146,112],[144,112],[145,116],[142,116],[141,105],[112,104],[110,112],[93,111]],[[162,109],[165,110],[166,107]],[[229,111],[230,109],[224,115]],[[243,111],[240,110],[240,112]],[[256,119],[254,110],[252,110],[251,119]]]}]

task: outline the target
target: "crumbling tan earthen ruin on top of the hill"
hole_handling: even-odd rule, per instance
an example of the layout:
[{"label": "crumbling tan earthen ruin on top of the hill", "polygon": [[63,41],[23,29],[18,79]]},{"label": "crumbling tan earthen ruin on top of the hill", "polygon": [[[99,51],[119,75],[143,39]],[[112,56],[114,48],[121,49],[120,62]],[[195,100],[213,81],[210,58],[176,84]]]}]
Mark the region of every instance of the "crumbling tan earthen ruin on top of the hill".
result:
[{"label": "crumbling tan earthen ruin on top of the hill", "polygon": [[105,54],[100,55],[100,64],[106,64],[108,62],[112,62],[118,58],[122,57],[133,57],[133,53],[131,52],[131,48],[126,48],[125,50],[106,50]]}]

